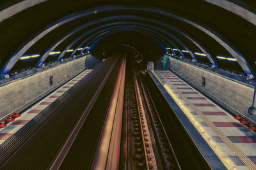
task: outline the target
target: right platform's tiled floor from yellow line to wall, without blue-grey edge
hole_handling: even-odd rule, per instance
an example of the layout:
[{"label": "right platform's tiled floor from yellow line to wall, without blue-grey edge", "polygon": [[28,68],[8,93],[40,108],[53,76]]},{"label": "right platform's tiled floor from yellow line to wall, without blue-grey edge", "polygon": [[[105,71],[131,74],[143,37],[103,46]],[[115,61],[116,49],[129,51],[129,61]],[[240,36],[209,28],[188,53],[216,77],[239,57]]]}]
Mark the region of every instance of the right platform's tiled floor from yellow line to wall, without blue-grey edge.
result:
[{"label": "right platform's tiled floor from yellow line to wall, without blue-grey edge", "polygon": [[256,134],[170,71],[152,71],[228,169],[256,169]]}]

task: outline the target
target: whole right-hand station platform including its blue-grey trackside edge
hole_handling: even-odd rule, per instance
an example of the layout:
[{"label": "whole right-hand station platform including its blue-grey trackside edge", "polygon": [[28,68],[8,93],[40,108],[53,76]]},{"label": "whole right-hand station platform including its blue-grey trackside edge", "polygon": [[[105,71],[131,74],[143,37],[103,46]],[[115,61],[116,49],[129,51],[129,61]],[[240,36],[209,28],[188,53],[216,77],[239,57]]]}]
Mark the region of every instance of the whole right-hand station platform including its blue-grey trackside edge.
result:
[{"label": "whole right-hand station platform including its blue-grey trackside edge", "polygon": [[148,70],[212,169],[256,169],[256,134],[171,71]]}]

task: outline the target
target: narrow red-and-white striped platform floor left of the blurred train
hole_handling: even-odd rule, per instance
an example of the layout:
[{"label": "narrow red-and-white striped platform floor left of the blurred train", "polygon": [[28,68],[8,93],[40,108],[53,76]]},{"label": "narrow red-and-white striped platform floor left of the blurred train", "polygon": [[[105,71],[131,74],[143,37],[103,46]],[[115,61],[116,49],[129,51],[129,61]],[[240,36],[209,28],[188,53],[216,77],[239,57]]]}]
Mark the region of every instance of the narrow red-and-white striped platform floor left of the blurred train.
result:
[{"label": "narrow red-and-white striped platform floor left of the blurred train", "polygon": [[82,73],[78,74],[72,80],[65,83],[65,85],[62,85],[60,88],[54,90],[54,92],[49,94],[47,97],[44,97],[44,99],[31,106],[31,108],[20,113],[21,117],[15,118],[15,121],[8,123],[7,127],[0,129],[0,145],[4,141],[6,141],[6,139],[10,138],[10,136],[12,136],[15,132],[19,131],[19,129],[27,124],[32,118],[40,114],[42,110],[49,106],[49,104],[51,104],[53,101],[58,99],[58,97],[64,94],[68,89],[70,89],[70,87],[72,87],[84,76],[90,73],[90,71],[92,71],[92,69],[86,69]]}]

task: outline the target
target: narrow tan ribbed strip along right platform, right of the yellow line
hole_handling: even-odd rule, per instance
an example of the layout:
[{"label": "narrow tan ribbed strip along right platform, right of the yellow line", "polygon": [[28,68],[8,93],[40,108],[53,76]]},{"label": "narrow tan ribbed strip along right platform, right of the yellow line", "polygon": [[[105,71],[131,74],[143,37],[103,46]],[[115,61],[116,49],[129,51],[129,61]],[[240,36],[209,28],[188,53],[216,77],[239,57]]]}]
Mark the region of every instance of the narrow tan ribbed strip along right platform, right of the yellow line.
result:
[{"label": "narrow tan ribbed strip along right platform, right of the yellow line", "polygon": [[[152,71],[153,72],[153,71]],[[156,76],[156,74],[153,72],[153,74]],[[166,78],[163,76],[162,73],[159,73],[162,75],[163,79],[166,80]],[[156,76],[157,77],[157,76]],[[157,79],[159,80],[159,78],[157,77]],[[166,80],[168,81],[168,80]],[[161,80],[159,80],[159,82],[164,86],[164,84],[161,82]],[[209,125],[209,127],[211,127],[212,131],[214,131],[222,140],[223,142],[234,152],[236,153],[236,155],[244,162],[244,164],[249,167],[250,169],[256,169],[256,165],[252,162],[252,160],[250,160],[234,143],[232,143],[232,141],[230,141],[230,139],[227,138],[227,136],[225,134],[223,134],[223,132],[220,131],[220,129],[218,129],[218,127],[216,127],[216,125],[212,124],[211,120],[209,120],[209,118],[205,117],[205,115],[198,110],[198,108],[196,108],[174,85],[172,85],[172,83],[170,83],[169,85],[172,86],[173,89],[176,90],[176,92],[179,93],[179,95],[181,97],[184,98],[184,100],[186,101],[186,103],[189,104],[189,106],[191,108],[193,108],[193,110],[196,111],[196,113],[198,113],[198,115],[200,116],[200,118],[202,118],[202,120],[204,120],[204,122]]]}]

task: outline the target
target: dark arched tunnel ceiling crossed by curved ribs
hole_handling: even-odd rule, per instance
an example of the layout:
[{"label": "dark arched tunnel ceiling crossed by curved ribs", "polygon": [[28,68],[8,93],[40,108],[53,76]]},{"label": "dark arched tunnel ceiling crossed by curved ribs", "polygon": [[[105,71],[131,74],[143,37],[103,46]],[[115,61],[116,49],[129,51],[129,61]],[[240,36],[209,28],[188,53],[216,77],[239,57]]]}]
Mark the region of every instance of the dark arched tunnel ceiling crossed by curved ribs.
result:
[{"label": "dark arched tunnel ceiling crossed by curved ribs", "polygon": [[[10,5],[18,2],[0,3],[0,9],[10,8]],[[0,23],[1,76],[13,69],[16,63],[19,64],[20,57],[27,53],[40,53],[39,59],[29,63],[41,66],[51,50],[60,50],[60,56],[63,57],[68,48],[96,45],[96,41],[105,38],[112,43],[111,37],[115,36],[107,35],[117,31],[118,34],[120,31],[123,32],[121,34],[133,31],[144,37],[147,34],[148,38],[157,40],[155,42],[158,42],[159,47],[187,50],[195,60],[199,58],[194,52],[205,53],[207,62],[215,66],[223,67],[223,61],[216,59],[216,55],[234,57],[244,73],[253,74],[256,71],[254,20],[227,6],[221,8],[212,1],[36,2],[33,2],[36,5],[31,5],[27,0],[27,7],[30,5],[30,8],[26,9],[25,5],[22,8],[26,10],[15,15],[13,11],[13,15],[10,14],[12,17]],[[255,9],[251,1],[248,6]],[[255,17],[253,14],[250,13],[251,18]],[[150,45],[144,45],[148,46],[149,51]],[[104,46],[95,49],[105,50]],[[166,49],[162,50],[166,52]],[[182,52],[176,53],[183,56]],[[224,64],[227,67],[231,65],[228,62]]]}]

